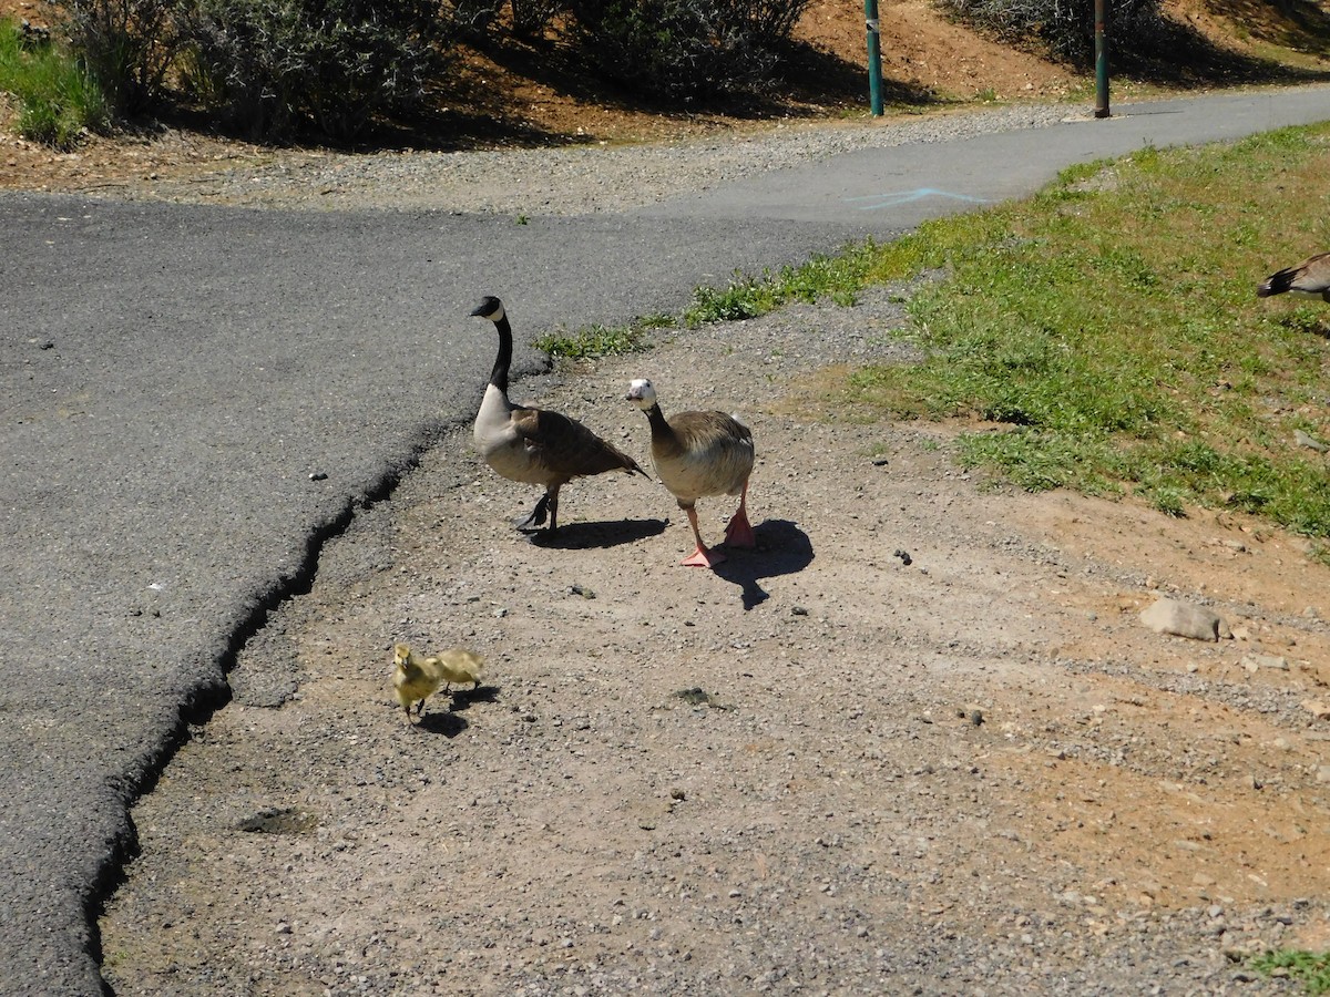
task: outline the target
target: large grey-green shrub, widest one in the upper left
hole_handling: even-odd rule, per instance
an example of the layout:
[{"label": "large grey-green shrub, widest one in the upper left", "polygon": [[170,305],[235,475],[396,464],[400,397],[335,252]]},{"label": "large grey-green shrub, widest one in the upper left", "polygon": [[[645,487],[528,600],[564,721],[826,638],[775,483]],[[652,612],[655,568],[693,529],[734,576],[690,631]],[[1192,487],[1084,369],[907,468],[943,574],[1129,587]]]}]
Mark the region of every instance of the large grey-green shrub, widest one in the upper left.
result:
[{"label": "large grey-green shrub, widest one in the upper left", "polygon": [[186,0],[180,25],[194,89],[255,137],[354,138],[416,110],[439,66],[428,0]]}]

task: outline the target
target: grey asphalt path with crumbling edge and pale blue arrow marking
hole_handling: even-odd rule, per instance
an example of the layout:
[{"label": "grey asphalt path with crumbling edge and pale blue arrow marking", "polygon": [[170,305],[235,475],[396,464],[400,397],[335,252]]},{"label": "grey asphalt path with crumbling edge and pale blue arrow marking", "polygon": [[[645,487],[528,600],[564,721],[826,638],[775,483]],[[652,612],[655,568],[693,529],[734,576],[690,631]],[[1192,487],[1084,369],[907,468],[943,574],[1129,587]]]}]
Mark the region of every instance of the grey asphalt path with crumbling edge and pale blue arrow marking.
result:
[{"label": "grey asphalt path with crumbling edge and pale blue arrow marking", "polygon": [[321,542],[473,411],[481,294],[524,335],[674,311],[1076,161],[1322,118],[1327,89],[1123,106],[525,226],[0,197],[0,992],[102,992],[128,800]]}]

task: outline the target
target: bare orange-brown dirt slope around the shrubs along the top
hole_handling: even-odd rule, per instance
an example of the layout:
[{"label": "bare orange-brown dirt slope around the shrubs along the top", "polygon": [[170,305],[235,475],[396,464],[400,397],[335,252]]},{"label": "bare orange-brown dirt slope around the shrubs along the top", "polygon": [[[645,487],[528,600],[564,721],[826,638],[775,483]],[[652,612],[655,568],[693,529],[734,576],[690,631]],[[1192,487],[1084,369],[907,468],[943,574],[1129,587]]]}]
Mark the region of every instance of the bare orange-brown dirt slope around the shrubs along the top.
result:
[{"label": "bare orange-brown dirt slope around the shrubs along the top", "polygon": [[[1174,21],[1217,48],[1210,65],[1177,66],[1165,85],[1208,85],[1262,77],[1250,60],[1274,60],[1303,73],[1330,72],[1330,16],[1325,3],[1287,5],[1244,0],[1170,0]],[[0,0],[0,16],[43,23],[41,0]],[[882,0],[880,41],[888,116],[971,101],[1091,98],[1092,81],[1071,68],[984,37],[947,20],[930,0]],[[773,120],[817,120],[866,113],[863,8],[855,0],[813,0],[795,37],[797,58],[786,66],[787,88],[743,113],[674,112],[644,106],[560,65],[557,53],[524,49],[496,39],[485,52],[464,53],[443,94],[431,134],[395,136],[390,148],[484,148],[593,141],[661,141],[700,133],[765,128]],[[1218,56],[1216,55],[1218,53]],[[1121,61],[1121,60],[1119,60]],[[1169,76],[1174,66],[1161,73]],[[1127,70],[1113,78],[1115,96],[1142,93]],[[196,122],[197,124],[197,122]],[[110,137],[89,137],[78,152],[53,153],[20,140],[13,108],[0,94],[0,189],[94,190],[100,183],[142,182],[154,175],[197,174],[215,164],[271,156],[230,137],[192,125],[150,124]]]}]

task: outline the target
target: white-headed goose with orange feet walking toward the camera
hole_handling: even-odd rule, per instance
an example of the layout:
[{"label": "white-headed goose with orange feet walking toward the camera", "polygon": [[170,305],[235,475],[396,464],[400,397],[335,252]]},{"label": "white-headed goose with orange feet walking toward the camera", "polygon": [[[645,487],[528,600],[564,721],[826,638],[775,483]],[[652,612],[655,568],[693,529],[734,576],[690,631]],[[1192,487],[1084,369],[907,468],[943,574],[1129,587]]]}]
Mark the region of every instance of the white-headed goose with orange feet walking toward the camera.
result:
[{"label": "white-headed goose with orange feet walking toward the camera", "polygon": [[706,495],[737,495],[739,508],[725,526],[730,546],[754,546],[747,521],[747,480],[753,473],[753,433],[725,412],[677,412],[665,419],[656,403],[656,388],[645,378],[628,386],[626,399],[646,413],[652,425],[652,460],[661,483],[688,513],[697,550],[684,564],[710,568],[725,560],[708,550],[697,526],[697,500]]}]

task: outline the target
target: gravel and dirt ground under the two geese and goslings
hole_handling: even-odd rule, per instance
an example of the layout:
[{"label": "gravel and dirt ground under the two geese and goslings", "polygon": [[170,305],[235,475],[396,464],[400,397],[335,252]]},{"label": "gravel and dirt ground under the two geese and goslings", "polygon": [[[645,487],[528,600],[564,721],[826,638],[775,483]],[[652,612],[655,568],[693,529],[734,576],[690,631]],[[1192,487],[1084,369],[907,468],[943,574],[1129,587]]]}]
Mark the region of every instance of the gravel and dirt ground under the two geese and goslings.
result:
[{"label": "gravel and dirt ground under the two geese and goslings", "polygon": [[[656,481],[569,485],[537,545],[467,428],[424,455],[134,808],[114,990],[1295,992],[1238,960],[1330,945],[1330,572],[831,419],[845,364],[908,359],[904,292],[517,386],[644,465],[630,378],[739,412],[759,544],[716,572]],[[1146,630],[1160,596],[1233,637]],[[408,726],[395,641],[485,681]]]}]

